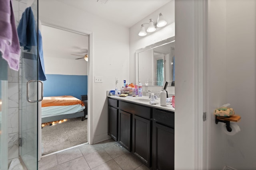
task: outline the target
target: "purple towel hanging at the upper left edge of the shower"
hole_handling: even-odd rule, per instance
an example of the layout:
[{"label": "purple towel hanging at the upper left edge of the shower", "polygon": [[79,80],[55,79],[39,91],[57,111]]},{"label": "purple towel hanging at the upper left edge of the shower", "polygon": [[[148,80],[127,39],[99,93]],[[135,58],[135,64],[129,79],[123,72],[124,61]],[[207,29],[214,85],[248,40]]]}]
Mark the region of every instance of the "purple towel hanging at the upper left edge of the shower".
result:
[{"label": "purple towel hanging at the upper left edge of the shower", "polygon": [[11,0],[0,0],[0,57],[10,68],[19,70],[20,42],[16,30]]}]

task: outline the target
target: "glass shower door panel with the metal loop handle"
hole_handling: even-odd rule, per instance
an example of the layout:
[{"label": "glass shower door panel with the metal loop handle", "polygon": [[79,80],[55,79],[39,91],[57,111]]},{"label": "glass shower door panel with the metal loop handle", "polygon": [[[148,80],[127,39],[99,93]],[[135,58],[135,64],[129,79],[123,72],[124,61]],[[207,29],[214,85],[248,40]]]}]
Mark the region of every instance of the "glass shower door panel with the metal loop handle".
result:
[{"label": "glass shower door panel with the metal loop handle", "polygon": [[[26,8],[26,14],[31,14],[33,22],[28,24],[27,37],[32,37],[34,43],[21,47],[21,64],[19,72],[20,86],[20,157],[28,170],[38,168],[38,0],[31,8]],[[23,17],[23,16],[22,16]],[[20,20],[21,24],[22,19]],[[24,24],[24,23],[23,23]],[[31,25],[32,24],[32,25]],[[19,26],[18,26],[19,29]],[[22,30],[23,33],[24,30]]]}]

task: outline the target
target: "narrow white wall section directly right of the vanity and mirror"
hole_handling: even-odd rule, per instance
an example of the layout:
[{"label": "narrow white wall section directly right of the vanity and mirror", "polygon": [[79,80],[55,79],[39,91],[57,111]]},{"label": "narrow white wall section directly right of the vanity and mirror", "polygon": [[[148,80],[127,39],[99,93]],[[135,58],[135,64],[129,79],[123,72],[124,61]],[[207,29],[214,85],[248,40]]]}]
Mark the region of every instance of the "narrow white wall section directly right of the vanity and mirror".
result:
[{"label": "narrow white wall section directly right of the vanity and mirror", "polygon": [[195,168],[194,1],[175,2],[174,168]]}]

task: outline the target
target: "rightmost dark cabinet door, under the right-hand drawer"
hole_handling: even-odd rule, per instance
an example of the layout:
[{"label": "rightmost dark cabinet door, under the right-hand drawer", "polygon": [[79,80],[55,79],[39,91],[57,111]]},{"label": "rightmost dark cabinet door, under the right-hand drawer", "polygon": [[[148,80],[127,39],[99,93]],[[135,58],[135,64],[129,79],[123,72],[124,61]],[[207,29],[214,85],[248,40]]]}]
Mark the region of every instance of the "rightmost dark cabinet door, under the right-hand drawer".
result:
[{"label": "rightmost dark cabinet door, under the right-hand drawer", "polygon": [[174,170],[174,129],[153,123],[154,170]]}]

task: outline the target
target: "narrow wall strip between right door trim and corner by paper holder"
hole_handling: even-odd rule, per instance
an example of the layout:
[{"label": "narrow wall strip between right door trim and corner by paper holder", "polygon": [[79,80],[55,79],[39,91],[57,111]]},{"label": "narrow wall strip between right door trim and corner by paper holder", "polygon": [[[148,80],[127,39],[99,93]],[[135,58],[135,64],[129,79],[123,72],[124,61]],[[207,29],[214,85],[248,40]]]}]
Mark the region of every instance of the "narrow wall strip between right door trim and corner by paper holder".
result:
[{"label": "narrow wall strip between right door trim and corner by paper holder", "polygon": [[[214,109],[226,104],[226,1],[209,1],[208,26],[208,121],[209,169],[222,169],[226,158],[226,138],[222,123],[215,124]],[[216,10],[218,9],[218,10]],[[220,82],[220,83],[218,83]]]}]

